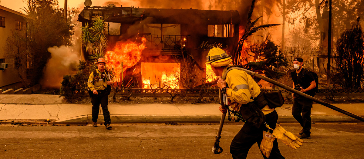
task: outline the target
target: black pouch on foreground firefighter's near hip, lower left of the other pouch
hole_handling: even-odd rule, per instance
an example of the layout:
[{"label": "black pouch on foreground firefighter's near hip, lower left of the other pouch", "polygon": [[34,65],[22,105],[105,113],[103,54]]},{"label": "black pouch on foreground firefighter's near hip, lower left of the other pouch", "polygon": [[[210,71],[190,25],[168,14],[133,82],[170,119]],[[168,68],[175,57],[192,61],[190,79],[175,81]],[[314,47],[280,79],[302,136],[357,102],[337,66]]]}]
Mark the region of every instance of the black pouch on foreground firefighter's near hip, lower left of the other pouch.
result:
[{"label": "black pouch on foreground firefighter's near hip, lower left of the other pouch", "polygon": [[244,122],[250,123],[254,127],[259,128],[262,123],[265,122],[264,113],[254,104],[254,102],[249,102],[248,104],[242,105],[240,107],[241,117]]}]

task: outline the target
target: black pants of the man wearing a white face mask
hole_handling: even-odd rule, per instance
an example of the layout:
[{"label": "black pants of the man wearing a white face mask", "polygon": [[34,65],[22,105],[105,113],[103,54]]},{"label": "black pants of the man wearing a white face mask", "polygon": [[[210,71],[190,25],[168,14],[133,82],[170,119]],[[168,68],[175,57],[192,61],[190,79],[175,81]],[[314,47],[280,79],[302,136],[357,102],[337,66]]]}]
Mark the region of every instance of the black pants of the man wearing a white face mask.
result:
[{"label": "black pants of the man wearing a white face mask", "polygon": [[[303,128],[303,132],[310,135],[311,132],[311,108],[312,101],[307,98],[293,99],[292,115]],[[301,115],[302,113],[302,115]]]}]

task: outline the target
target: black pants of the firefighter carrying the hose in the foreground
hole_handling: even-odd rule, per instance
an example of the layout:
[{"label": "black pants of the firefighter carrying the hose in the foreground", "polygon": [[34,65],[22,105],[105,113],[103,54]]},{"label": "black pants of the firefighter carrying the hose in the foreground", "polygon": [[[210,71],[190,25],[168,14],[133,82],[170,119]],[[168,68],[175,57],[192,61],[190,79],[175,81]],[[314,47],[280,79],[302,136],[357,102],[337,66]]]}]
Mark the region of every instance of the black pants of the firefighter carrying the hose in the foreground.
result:
[{"label": "black pants of the firefighter carrying the hose in the foreground", "polygon": [[[269,127],[275,129],[278,120],[276,110],[272,113],[266,114],[265,117],[265,122],[268,123]],[[250,147],[252,147],[254,143],[258,143],[259,148],[263,139],[264,130],[267,130],[264,123],[260,126],[260,128],[253,127],[250,123],[245,123],[231,142],[230,153],[233,155],[233,159],[245,159]],[[270,133],[273,133],[273,131],[270,130]],[[263,155],[263,157],[266,159],[266,156]],[[284,159],[278,149],[277,139],[273,142],[273,148],[270,152],[269,158]]]}]

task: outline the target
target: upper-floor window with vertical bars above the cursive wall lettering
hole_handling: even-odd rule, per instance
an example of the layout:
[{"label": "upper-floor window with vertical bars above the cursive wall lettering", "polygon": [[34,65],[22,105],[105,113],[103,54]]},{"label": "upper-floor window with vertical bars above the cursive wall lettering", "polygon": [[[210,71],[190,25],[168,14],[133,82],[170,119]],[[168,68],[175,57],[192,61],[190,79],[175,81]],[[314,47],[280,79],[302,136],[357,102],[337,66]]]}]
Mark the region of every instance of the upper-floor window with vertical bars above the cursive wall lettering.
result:
[{"label": "upper-floor window with vertical bars above the cursive wall lettering", "polygon": [[234,37],[234,24],[207,25],[209,37]]}]

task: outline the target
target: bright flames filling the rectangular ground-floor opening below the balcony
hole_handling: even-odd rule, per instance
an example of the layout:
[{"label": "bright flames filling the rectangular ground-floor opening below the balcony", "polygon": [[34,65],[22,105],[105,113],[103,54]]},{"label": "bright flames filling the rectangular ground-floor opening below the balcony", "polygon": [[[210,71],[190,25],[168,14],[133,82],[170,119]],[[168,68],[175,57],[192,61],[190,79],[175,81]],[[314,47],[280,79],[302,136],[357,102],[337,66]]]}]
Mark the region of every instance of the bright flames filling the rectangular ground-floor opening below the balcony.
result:
[{"label": "bright flames filling the rectangular ground-floor opening below the balcony", "polygon": [[[142,62],[141,73],[143,88],[155,89],[164,85],[170,86],[171,89],[179,89],[179,63]],[[152,86],[150,87],[151,83]]]}]

